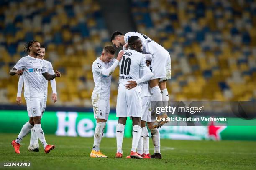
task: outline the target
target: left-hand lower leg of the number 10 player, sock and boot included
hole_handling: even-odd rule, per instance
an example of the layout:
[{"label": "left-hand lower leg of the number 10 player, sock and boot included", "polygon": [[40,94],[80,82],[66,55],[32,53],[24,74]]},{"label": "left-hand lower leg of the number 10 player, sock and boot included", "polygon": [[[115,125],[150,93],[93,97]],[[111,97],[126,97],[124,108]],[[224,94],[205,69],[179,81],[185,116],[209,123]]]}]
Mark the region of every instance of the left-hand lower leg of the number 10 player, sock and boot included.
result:
[{"label": "left-hand lower leg of the number 10 player, sock and boot included", "polygon": [[123,146],[123,135],[124,135],[126,119],[127,117],[119,117],[118,124],[116,125],[117,151],[116,151],[115,158],[122,158],[123,156],[122,146]]}]

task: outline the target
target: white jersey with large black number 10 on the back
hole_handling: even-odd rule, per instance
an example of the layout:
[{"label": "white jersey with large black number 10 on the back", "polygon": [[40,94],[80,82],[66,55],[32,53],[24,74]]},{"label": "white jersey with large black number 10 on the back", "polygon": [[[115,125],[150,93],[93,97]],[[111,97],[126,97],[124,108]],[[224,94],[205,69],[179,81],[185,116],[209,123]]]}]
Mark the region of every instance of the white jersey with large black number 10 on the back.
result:
[{"label": "white jersey with large black number 10 on the back", "polygon": [[[124,50],[124,55],[119,62],[119,88],[129,84],[128,81],[140,79],[140,70],[146,69],[145,56],[135,50]],[[141,84],[132,88],[141,92]]]}]

